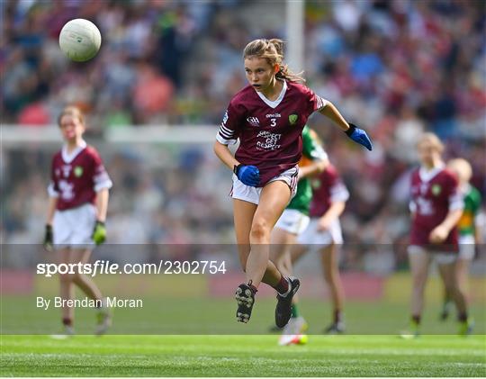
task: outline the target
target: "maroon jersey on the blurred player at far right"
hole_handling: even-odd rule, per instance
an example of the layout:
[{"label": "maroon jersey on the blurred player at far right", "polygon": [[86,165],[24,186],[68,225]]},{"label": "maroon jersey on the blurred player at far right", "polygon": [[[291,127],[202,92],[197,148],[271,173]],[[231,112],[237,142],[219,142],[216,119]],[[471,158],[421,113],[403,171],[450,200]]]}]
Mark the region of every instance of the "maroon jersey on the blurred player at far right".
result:
[{"label": "maroon jersey on the blurred player at far right", "polygon": [[420,167],[411,176],[410,211],[413,220],[410,244],[441,251],[457,251],[457,229],[439,245],[432,245],[430,232],[446,219],[449,211],[463,209],[463,199],[455,175],[444,167],[426,171]]}]

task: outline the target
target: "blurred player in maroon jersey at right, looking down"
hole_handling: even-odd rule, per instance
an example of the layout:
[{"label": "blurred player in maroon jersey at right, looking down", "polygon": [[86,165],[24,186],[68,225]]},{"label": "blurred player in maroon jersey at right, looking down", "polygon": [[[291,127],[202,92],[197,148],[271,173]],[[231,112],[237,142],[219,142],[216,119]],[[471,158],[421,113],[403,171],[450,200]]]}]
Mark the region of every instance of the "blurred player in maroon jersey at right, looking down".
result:
[{"label": "blurred player in maroon jersey at right, looking down", "polygon": [[432,259],[436,260],[447,291],[455,301],[459,334],[468,334],[473,328],[455,272],[459,250],[456,225],[463,213],[463,197],[456,176],[446,169],[441,158],[443,150],[444,146],[435,134],[425,133],[418,144],[421,166],[411,176],[409,259],[413,292],[410,333],[404,337],[419,335],[428,266]]}]

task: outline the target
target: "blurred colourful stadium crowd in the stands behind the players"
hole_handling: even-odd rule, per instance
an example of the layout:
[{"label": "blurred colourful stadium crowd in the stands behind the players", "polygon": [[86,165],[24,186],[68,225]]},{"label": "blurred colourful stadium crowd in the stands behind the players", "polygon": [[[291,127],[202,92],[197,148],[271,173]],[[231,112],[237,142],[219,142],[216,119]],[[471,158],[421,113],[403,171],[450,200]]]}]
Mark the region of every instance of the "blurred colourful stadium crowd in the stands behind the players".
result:
[{"label": "blurred colourful stadium crowd in the stands behind the players", "polygon": [[[65,104],[76,103],[101,144],[106,128],[131,124],[214,124],[216,133],[229,99],[246,84],[241,51],[247,41],[285,38],[284,2],[23,0],[0,6],[2,123],[41,128],[54,123]],[[386,273],[406,261],[408,178],[422,131],[446,140],[447,157],[472,163],[473,185],[486,197],[484,5],[307,1],[305,14],[308,85],[374,140],[366,154],[320,116],[311,119],[351,192],[342,265]],[[82,64],[68,62],[58,49],[62,25],[77,17],[94,21],[103,36],[96,59]],[[115,184],[112,242],[231,242],[229,173],[212,150],[148,150],[102,150]],[[50,156],[8,149],[3,158],[4,240],[37,241]],[[161,164],[164,159],[170,164]]]}]

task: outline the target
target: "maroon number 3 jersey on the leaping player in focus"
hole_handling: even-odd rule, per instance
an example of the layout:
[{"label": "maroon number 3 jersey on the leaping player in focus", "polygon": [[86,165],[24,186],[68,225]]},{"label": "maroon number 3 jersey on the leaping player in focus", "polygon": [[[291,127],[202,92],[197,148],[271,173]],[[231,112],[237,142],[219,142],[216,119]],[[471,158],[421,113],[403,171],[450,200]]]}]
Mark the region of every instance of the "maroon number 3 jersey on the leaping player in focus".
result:
[{"label": "maroon number 3 jersey on the leaping player in focus", "polygon": [[327,101],[301,84],[284,81],[275,101],[246,86],[229,103],[216,139],[236,143],[235,157],[243,165],[257,166],[260,184],[296,166],[302,156],[302,129],[311,113]]}]

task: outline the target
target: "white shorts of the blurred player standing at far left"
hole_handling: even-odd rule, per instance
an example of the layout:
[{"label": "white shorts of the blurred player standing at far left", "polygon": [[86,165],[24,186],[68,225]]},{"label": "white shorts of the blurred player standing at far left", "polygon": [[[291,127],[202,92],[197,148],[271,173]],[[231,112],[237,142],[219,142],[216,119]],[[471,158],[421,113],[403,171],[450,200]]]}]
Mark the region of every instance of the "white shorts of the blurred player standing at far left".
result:
[{"label": "white shorts of the blurred player standing at far left", "polygon": [[56,211],[52,222],[55,248],[93,248],[91,235],[95,222],[96,208],[92,203]]}]

